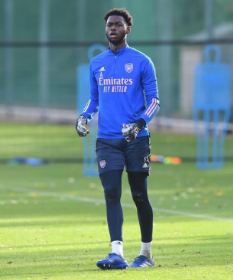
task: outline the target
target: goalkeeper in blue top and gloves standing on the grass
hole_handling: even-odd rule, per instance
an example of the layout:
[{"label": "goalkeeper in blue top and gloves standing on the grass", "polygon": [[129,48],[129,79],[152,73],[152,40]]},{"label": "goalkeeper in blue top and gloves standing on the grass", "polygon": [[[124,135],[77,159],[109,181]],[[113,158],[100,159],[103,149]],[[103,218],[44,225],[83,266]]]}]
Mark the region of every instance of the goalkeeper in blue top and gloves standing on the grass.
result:
[{"label": "goalkeeper in blue top and gloves standing on the grass", "polygon": [[123,8],[104,17],[109,48],[90,63],[90,100],[78,117],[79,136],[99,112],[96,153],[104,189],[112,252],[96,264],[101,269],[128,267],[123,255],[122,172],[126,166],[141,230],[141,251],[130,267],[154,265],[151,251],[153,211],[147,193],[150,139],[147,124],[159,111],[155,68],[145,54],[127,44],[133,19]]}]

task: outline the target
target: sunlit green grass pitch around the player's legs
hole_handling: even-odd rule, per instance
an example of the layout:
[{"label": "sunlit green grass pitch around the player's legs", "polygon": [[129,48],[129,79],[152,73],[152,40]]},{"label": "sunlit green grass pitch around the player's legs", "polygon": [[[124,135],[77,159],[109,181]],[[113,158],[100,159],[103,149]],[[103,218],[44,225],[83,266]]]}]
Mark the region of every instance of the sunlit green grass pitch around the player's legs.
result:
[{"label": "sunlit green grass pitch around the player's legs", "polygon": [[[0,124],[0,155],[80,159],[73,127]],[[226,154],[233,156],[233,139]],[[152,135],[153,153],[195,157],[195,138]],[[82,176],[82,162],[41,166],[0,164],[0,280],[3,279],[233,279],[233,162],[199,170],[194,161],[152,164],[154,207],[149,269],[101,271],[110,252],[99,179]],[[131,262],[140,234],[123,177],[124,253]]]}]

